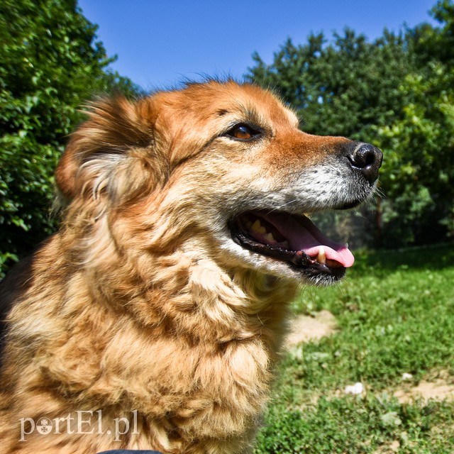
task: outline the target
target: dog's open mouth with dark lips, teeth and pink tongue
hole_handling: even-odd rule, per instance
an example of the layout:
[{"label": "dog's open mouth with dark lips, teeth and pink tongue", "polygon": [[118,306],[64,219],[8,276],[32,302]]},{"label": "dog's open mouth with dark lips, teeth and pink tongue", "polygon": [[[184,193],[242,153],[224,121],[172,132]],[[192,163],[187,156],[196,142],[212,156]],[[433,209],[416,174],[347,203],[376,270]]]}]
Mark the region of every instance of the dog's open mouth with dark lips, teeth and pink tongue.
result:
[{"label": "dog's open mouth with dark lips, teeth and pink tongue", "polygon": [[306,216],[248,211],[228,226],[243,248],[288,262],[309,279],[341,279],[355,261],[346,246],[326,238]]}]

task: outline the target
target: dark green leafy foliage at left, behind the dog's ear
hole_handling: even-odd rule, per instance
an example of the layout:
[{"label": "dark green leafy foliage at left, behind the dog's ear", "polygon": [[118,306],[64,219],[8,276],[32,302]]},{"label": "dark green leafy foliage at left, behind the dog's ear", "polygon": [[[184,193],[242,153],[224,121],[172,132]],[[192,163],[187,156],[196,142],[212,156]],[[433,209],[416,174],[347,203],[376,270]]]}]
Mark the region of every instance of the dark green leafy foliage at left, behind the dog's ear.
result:
[{"label": "dark green leafy foliage at left, behind the dog's ear", "polygon": [[55,228],[52,174],[79,109],[96,93],[138,92],[106,67],[74,0],[0,4],[0,277]]}]

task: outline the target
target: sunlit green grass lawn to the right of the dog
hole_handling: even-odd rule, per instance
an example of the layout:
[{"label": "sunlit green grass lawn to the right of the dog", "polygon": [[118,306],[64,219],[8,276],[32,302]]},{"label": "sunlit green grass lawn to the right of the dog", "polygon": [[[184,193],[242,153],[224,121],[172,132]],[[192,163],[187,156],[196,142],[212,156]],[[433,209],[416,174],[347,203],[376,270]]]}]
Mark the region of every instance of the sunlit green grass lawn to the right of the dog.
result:
[{"label": "sunlit green grass lawn to the right of the dog", "polygon": [[393,397],[405,372],[454,382],[453,284],[444,245],[360,253],[343,284],[304,289],[294,310],[328,309],[338,332],[285,356],[255,454],[453,453],[454,402]]}]

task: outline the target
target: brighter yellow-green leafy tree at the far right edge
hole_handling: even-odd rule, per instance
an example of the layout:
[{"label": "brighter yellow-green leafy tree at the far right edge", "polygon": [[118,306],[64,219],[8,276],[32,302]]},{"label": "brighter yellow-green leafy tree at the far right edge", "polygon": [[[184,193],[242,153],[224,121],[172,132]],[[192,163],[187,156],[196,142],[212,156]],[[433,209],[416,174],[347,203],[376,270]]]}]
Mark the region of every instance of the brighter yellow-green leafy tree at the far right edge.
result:
[{"label": "brighter yellow-green leafy tree at the far right edge", "polygon": [[416,68],[399,85],[402,115],[377,128],[387,150],[383,184],[389,240],[431,243],[454,236],[454,5],[439,1],[408,33]]}]

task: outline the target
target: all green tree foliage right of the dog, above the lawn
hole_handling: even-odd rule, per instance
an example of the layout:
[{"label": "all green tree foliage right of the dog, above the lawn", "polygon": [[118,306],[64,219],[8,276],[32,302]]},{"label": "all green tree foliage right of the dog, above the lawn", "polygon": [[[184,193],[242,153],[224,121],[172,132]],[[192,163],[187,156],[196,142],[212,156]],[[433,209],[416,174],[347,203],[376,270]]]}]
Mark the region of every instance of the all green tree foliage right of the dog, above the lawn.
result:
[{"label": "all green tree foliage right of the dog, above the lawn", "polygon": [[247,77],[274,88],[299,112],[304,130],[345,135],[384,151],[384,245],[453,236],[454,5],[405,33],[384,30],[373,43],[345,29],[328,43],[287,40],[271,65],[258,54]]}]

